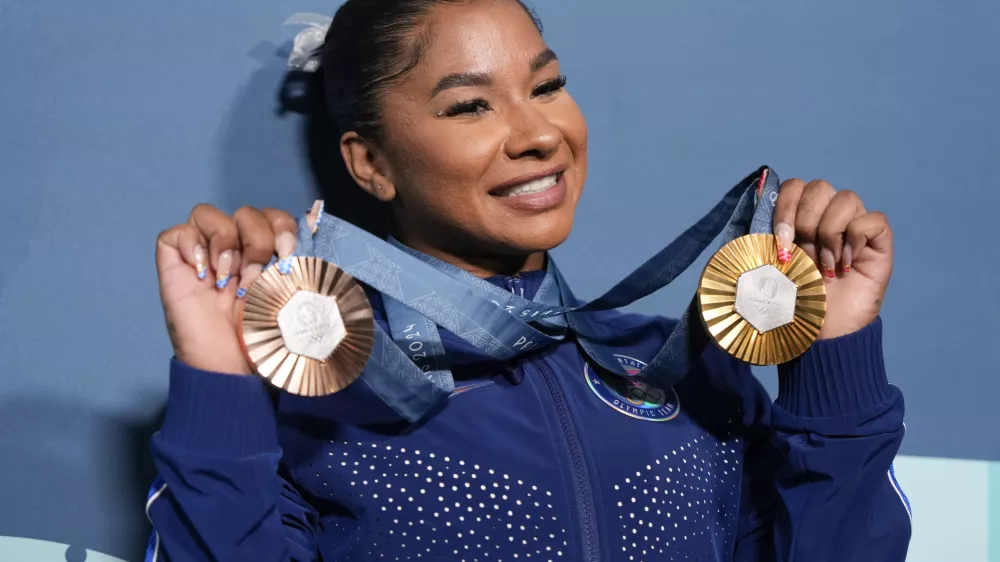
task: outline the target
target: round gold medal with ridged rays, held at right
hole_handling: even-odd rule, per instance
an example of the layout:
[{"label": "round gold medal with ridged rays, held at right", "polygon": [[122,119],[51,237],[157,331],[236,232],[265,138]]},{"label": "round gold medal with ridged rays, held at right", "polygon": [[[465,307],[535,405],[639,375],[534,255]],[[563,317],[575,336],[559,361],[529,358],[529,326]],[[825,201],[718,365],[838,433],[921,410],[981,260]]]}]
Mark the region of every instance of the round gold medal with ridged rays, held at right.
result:
[{"label": "round gold medal with ridged rays, held at right", "polygon": [[698,283],[705,329],[730,355],[753,365],[776,365],[801,355],[826,317],[826,286],[797,246],[778,261],[771,234],[741,236],[709,260]]}]

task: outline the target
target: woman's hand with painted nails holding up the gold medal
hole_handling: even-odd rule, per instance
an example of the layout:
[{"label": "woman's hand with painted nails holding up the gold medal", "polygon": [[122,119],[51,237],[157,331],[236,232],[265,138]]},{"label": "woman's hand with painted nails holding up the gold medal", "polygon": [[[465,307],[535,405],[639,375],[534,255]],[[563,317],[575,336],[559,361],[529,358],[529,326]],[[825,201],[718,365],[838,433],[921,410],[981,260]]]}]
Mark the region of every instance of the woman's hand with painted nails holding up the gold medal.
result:
[{"label": "woman's hand with painted nails holding up the gold medal", "polygon": [[819,264],[826,281],[826,320],[819,339],[850,334],[879,314],[892,275],[892,230],[885,215],[868,212],[857,193],[829,183],[792,179],[778,192],[774,233]]}]

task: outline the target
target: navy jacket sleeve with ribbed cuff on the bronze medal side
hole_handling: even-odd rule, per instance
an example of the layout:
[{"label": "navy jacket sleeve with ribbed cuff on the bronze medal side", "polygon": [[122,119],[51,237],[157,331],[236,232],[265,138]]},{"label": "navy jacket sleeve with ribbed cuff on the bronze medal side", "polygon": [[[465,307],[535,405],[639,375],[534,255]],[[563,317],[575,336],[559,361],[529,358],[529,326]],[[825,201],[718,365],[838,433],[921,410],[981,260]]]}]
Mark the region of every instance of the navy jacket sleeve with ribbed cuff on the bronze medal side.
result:
[{"label": "navy jacket sleeve with ribbed cuff on the bronze medal side", "polygon": [[274,407],[259,378],[172,361],[152,452],[146,562],[319,559],[316,512],[279,475]]}]

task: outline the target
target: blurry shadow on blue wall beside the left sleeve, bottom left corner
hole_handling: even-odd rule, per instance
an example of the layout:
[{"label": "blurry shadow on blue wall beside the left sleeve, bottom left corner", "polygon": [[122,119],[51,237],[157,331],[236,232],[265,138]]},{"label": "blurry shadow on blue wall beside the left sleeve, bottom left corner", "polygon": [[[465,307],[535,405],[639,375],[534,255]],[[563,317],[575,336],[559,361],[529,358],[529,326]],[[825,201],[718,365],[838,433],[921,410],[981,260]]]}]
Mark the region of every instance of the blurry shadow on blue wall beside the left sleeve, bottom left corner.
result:
[{"label": "blurry shadow on blue wall beside the left sleeve, bottom left corner", "polygon": [[84,549],[142,560],[150,529],[143,507],[154,477],[149,438],[162,410],[136,419],[83,401],[4,400],[0,451],[16,462],[4,467],[12,485],[0,488],[0,535],[70,545],[68,562],[83,562]]}]

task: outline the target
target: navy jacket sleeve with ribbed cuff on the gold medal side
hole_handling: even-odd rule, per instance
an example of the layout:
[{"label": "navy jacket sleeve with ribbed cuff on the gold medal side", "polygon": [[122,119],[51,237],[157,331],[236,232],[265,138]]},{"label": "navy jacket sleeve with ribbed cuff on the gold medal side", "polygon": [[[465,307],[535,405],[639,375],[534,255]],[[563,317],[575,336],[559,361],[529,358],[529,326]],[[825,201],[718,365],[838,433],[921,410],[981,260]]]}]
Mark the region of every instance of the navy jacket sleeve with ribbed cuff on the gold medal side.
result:
[{"label": "navy jacket sleeve with ribbed cuff on the gold medal side", "polygon": [[886,378],[881,319],[816,342],[778,377],[745,443],[734,560],[903,562],[910,505],[892,462],[904,405]]}]

